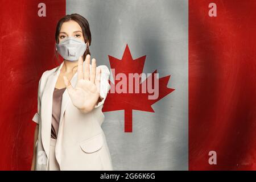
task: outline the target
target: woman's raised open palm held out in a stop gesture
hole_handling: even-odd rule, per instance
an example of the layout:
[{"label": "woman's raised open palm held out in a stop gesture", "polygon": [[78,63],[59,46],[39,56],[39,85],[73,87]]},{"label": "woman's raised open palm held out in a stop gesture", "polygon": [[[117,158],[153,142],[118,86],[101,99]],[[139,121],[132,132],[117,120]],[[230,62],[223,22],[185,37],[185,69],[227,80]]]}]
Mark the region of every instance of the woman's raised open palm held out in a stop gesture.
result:
[{"label": "woman's raised open palm held out in a stop gesture", "polygon": [[64,76],[63,78],[73,105],[82,112],[88,113],[94,108],[100,97],[101,69],[96,67],[96,59],[92,59],[90,69],[90,55],[86,55],[85,58],[85,71],[83,71],[82,65],[82,57],[79,57],[75,88],[67,77]]}]

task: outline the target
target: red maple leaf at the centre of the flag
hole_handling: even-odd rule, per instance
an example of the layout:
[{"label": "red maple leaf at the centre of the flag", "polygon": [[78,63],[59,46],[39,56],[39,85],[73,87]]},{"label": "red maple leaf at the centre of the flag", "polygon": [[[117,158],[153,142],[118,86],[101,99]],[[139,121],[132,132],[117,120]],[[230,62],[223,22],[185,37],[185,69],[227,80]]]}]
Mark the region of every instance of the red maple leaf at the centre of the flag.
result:
[{"label": "red maple leaf at the centre of the flag", "polygon": [[[139,93],[135,93],[134,91],[135,81],[133,81],[133,84],[129,82],[129,73],[133,73],[133,74],[138,73],[140,75],[143,71],[145,59],[146,59],[146,55],[133,60],[128,44],[126,45],[125,52],[123,53],[123,57],[121,60],[109,55],[109,62],[110,62],[110,67],[112,69],[112,73],[114,69],[113,78],[116,78],[118,73],[122,73],[124,74],[123,76],[126,76],[127,79],[126,80],[123,80],[121,78],[120,80],[114,79],[114,83],[112,83],[109,80],[111,89],[109,90],[108,96],[104,102],[104,107],[102,108],[102,111],[106,112],[106,111],[115,111],[115,110],[125,110],[125,132],[132,132],[133,110],[149,111],[154,113],[154,110],[152,109],[151,105],[175,90],[175,89],[167,88],[170,75],[162,78],[157,78],[155,77],[155,74],[154,74],[156,73],[156,70],[155,70],[143,82],[141,82],[141,77],[139,78],[138,88],[140,91]],[[152,95],[152,93],[149,93],[148,90],[146,90],[146,93],[142,93],[141,90],[142,90],[142,85],[147,84],[147,81],[149,80],[150,81],[152,80],[152,85],[154,87],[154,79],[157,79],[159,82],[159,95],[158,95],[158,98],[156,98],[155,100],[150,100],[148,99],[148,96]],[[113,90],[116,90],[116,86],[120,81],[127,82],[127,89],[125,89],[127,90],[127,93],[117,93],[116,91],[115,93],[113,93]],[[129,87],[130,89],[133,89],[133,93],[129,92]]]}]

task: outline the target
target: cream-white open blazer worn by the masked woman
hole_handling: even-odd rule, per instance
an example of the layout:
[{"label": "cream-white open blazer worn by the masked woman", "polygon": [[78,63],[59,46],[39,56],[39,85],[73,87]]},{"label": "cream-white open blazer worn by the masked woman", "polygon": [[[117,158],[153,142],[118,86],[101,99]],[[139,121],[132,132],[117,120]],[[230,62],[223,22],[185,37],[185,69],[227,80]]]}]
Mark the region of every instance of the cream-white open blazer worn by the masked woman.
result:
[{"label": "cream-white open blazer worn by the masked woman", "polygon": [[[64,61],[59,69],[56,67],[44,72],[39,81],[38,112],[32,118],[32,121],[39,124],[36,142],[36,170],[46,170],[48,166],[53,90],[63,64]],[[85,68],[85,62],[83,65]],[[60,170],[113,170],[108,144],[104,131],[101,129],[101,124],[105,119],[102,106],[110,89],[108,82],[110,72],[105,65],[98,67],[101,68],[100,95],[104,99],[92,111],[82,113],[72,104],[68,90],[66,89],[63,93],[55,147]],[[77,72],[71,80],[73,87],[76,82]]]}]

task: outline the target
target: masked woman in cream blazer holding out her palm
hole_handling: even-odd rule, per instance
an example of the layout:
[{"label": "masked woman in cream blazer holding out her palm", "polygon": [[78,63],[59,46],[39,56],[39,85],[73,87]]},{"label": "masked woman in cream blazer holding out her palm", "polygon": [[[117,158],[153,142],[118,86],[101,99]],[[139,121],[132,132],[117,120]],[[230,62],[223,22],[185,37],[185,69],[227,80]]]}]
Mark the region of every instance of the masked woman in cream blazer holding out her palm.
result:
[{"label": "masked woman in cream blazer holding out her palm", "polygon": [[88,21],[79,14],[57,23],[59,67],[43,73],[31,170],[113,170],[102,106],[110,89],[109,69],[90,64]]}]

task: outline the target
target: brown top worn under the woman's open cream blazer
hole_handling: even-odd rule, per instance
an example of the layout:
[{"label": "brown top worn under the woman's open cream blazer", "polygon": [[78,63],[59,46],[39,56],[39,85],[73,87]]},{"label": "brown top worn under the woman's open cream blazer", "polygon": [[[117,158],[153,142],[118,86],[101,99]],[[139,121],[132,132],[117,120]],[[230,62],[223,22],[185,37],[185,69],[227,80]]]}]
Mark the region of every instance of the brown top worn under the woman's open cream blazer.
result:
[{"label": "brown top worn under the woman's open cream blazer", "polygon": [[54,139],[57,139],[57,135],[58,135],[61,102],[62,102],[62,95],[64,91],[65,91],[65,87],[62,89],[54,88],[54,92],[53,92],[51,138],[54,138]]}]

